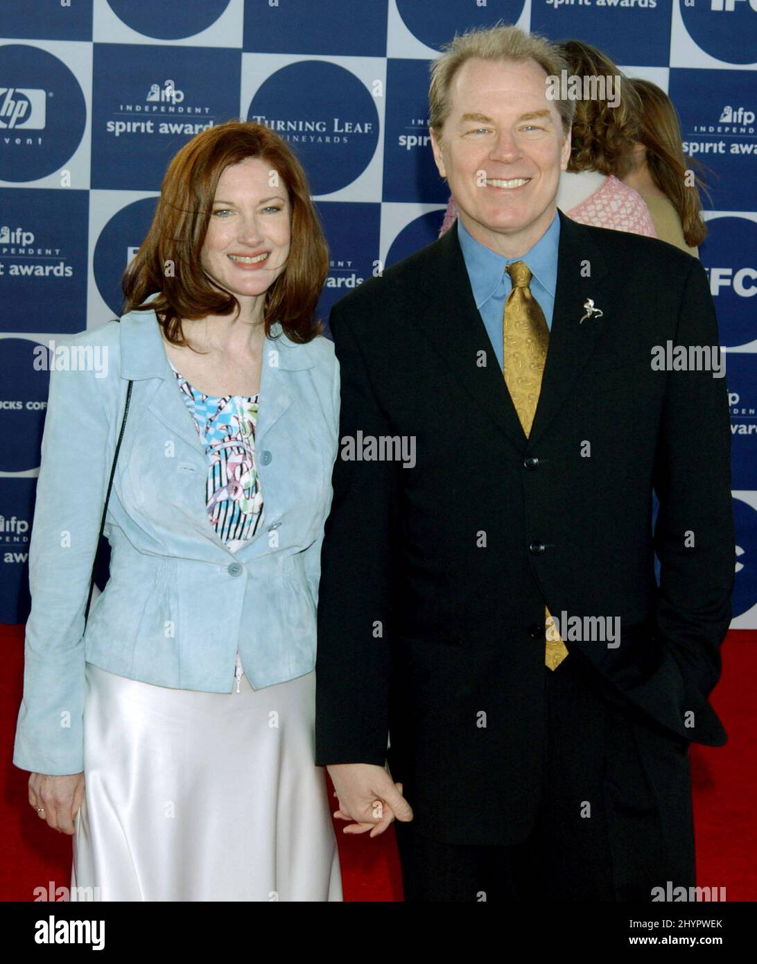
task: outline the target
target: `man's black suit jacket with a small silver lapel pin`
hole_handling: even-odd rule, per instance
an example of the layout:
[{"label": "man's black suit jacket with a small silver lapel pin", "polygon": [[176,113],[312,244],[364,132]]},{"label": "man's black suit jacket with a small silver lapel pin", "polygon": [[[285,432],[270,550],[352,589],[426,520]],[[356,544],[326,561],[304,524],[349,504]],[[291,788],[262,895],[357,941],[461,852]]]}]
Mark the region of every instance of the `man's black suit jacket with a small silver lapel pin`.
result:
[{"label": "man's black suit jacket with a small silver lapel pin", "polygon": [[[708,702],[734,577],[725,379],[651,365],[668,340],[718,345],[707,277],[665,242],[559,213],[528,440],[457,227],[330,315],[340,440],[414,437],[416,464],[337,456],[316,763],[382,764],[390,731],[416,826],[449,843],[514,843],[533,822],[545,604],[555,616],[619,617],[616,648],[567,642],[567,658],[596,671],[618,705],[672,740],[726,740]],[[587,298],[604,314],[580,323]]]}]

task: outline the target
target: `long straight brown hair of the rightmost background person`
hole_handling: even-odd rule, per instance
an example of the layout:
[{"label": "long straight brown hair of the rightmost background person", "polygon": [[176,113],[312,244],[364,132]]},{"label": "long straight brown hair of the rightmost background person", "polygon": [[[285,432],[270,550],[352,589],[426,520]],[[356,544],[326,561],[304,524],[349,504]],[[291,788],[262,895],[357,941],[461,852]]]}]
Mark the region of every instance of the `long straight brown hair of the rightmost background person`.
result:
[{"label": "long straight brown hair of the rightmost background person", "polygon": [[640,97],[640,125],[621,180],[644,199],[657,236],[698,257],[697,245],[707,235],[697,190],[704,183],[696,174],[693,184],[687,182],[695,162],[684,154],[675,107],[657,84],[639,78],[629,84]]}]

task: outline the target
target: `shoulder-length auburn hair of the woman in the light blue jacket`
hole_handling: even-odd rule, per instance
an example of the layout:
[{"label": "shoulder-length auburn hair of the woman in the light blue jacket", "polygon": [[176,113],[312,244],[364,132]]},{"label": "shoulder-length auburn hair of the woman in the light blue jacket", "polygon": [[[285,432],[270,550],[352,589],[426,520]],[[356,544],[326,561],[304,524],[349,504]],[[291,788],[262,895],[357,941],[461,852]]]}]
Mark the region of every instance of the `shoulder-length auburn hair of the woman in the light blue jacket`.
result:
[{"label": "shoulder-length auburn hair of the woman in the light blue jacket", "polygon": [[[152,224],[121,279],[121,314],[153,310],[167,339],[186,345],[182,318],[194,320],[241,310],[234,295],[210,281],[200,264],[200,253],[221,175],[248,157],[271,165],[272,174],[287,190],[291,209],[286,267],[265,293],[266,336],[276,321],[283,333],[299,344],[323,332],[323,322],[314,314],[328,275],[329,254],[307,177],[286,142],[251,120],[228,120],[209,127],[171,159]],[[146,303],[156,292],[158,297]]]}]

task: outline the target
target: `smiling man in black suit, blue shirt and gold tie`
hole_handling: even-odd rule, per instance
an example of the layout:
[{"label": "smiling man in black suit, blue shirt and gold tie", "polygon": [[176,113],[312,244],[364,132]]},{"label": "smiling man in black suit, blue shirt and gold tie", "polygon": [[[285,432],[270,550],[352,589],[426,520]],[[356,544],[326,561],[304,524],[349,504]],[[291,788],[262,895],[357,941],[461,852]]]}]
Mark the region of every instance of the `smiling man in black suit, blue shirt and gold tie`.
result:
[{"label": "smiling man in black suit, blue shirt and gold tie", "polygon": [[458,224],[330,316],[316,762],[350,832],[397,819],[408,900],[693,886],[689,745],[726,739],[715,309],[689,254],[557,210],[564,67],[514,27],[455,40],[430,127]]}]

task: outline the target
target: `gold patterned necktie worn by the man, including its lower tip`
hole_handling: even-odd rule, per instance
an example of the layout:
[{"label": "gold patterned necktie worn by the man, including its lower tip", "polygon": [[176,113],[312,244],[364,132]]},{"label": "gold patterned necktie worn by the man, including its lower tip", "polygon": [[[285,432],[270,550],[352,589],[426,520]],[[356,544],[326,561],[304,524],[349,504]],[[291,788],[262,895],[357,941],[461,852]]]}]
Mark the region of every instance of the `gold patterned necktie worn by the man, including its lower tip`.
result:
[{"label": "gold patterned necktie worn by the man, including its lower tip", "polygon": [[[547,360],[549,329],[544,312],[531,293],[531,271],[523,261],[514,261],[505,269],[512,290],[502,317],[502,340],[505,349],[505,384],[520,424],[528,439],[534,424],[536,405],[541,390],[541,376]],[[557,669],[567,647],[549,609],[544,607],[544,663]]]}]

